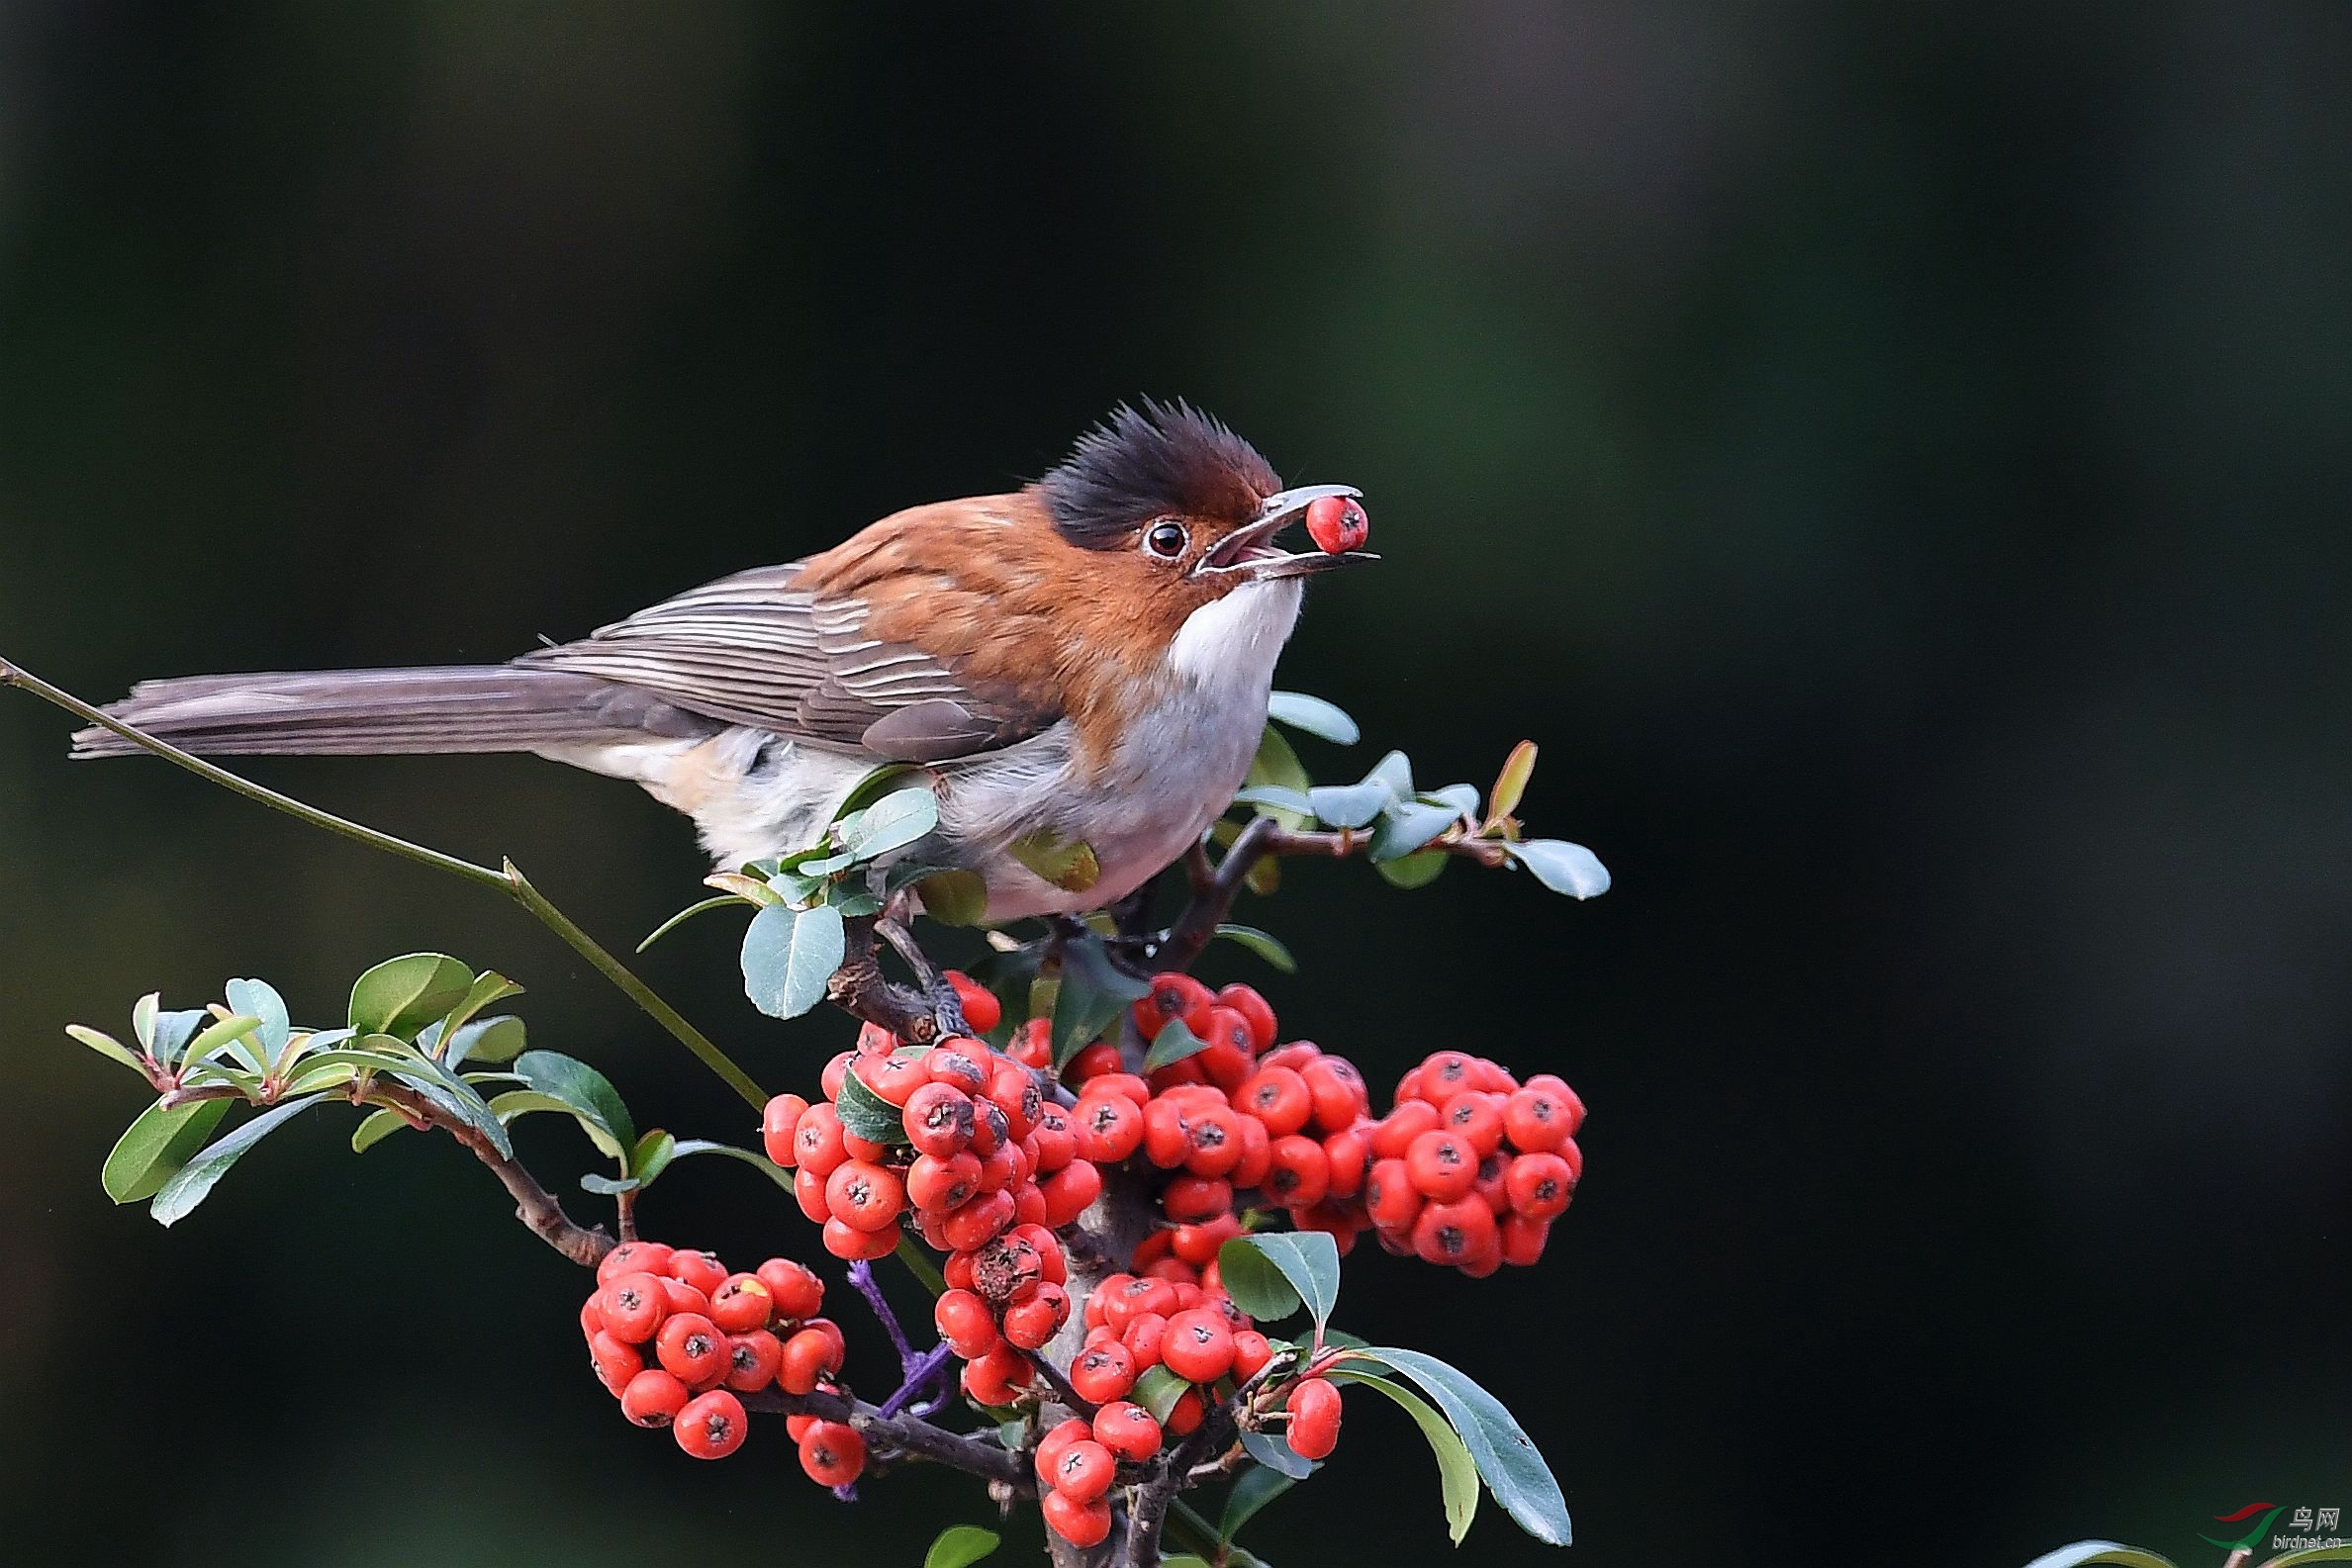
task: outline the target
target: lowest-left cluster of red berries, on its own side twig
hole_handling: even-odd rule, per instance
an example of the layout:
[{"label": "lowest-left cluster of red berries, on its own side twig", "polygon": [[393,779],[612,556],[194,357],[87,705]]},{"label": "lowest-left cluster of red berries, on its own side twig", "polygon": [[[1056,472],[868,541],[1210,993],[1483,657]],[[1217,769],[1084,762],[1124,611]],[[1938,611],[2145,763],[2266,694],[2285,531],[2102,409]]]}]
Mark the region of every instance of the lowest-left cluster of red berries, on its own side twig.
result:
[{"label": "lowest-left cluster of red berries, on its own side twig", "polygon": [[[826,1281],[790,1258],[729,1274],[710,1253],[623,1241],[597,1265],[581,1333],[597,1380],[640,1427],[668,1427],[696,1460],[743,1446],[743,1401],[769,1385],[809,1394],[842,1371],[842,1331],[818,1316]],[[826,1486],[854,1481],[866,1439],[793,1418],[800,1465]]]}]

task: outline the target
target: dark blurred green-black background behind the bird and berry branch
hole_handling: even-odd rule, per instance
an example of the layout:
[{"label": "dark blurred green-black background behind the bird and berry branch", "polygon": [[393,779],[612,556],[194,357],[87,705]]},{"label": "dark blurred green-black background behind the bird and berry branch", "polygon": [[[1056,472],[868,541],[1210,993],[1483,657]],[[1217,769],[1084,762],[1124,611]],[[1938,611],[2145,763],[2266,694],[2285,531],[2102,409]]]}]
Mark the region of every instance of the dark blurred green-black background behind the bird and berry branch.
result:
[{"label": "dark blurred green-black background behind the bird and berry branch", "polygon": [[[1343,1307],[1508,1399],[1571,1554],[1489,1505],[1454,1559],[1369,1406],[1256,1547],[2206,1561],[2249,1500],[2352,1507],[2347,139],[2331,5],[16,2],[0,649],[101,701],[501,658],[1192,397],[1378,524],[1279,677],[1367,745],[1308,762],[1534,736],[1526,816],[1616,872],[1296,865],[1244,917],[1303,973],[1216,954],[1378,1084],[1468,1044],[1592,1105],[1541,1269],[1371,1251]],[[623,1425],[447,1143],[318,1117],[172,1232],[113,1208],[141,1091],[64,1023],[247,973],[332,1020],[412,947],[642,1124],[753,1128],[496,898],[68,729],[0,701],[19,1561],[913,1563],[985,1516]],[[619,783],[252,771],[614,945],[699,896]],[[647,973],[814,1079],[847,1025],[757,1018],[734,940]],[[647,1225],[814,1248],[734,1166]]]}]

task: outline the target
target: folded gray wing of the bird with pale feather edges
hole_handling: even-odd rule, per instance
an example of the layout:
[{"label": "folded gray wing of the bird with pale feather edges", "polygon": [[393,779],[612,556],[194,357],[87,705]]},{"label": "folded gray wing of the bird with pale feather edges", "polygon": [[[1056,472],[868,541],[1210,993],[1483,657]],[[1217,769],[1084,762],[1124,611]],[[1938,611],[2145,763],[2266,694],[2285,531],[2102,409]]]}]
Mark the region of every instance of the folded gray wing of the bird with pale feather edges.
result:
[{"label": "folded gray wing of the bird with pale feather edges", "polygon": [[868,637],[861,599],[818,599],[793,588],[797,576],[797,562],[739,571],[515,663],[626,682],[689,712],[896,762],[997,750],[1061,717]]}]

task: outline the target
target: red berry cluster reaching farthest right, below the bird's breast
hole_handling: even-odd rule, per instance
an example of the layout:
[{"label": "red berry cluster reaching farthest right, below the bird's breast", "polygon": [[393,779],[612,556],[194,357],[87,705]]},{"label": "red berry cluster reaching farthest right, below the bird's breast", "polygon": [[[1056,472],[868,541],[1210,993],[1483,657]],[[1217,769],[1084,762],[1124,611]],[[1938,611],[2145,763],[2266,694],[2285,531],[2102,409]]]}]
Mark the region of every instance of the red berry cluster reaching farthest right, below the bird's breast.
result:
[{"label": "red berry cluster reaching farthest right, below the bird's breast", "polygon": [[1557,1077],[1522,1086],[1491,1060],[1439,1051],[1376,1121],[1355,1065],[1310,1041],[1277,1048],[1275,1011],[1247,985],[1155,976],[1134,1018],[1145,1039],[1181,1020],[1207,1041],[1148,1079],[1122,1072],[1110,1044],[1070,1063],[1077,1152],[1096,1164],[1141,1152],[1171,1173],[1160,1194],[1171,1229],[1143,1244],[1138,1272],[1202,1281],[1242,1234],[1237,1194],[1254,1194],[1247,1204],[1287,1208],[1343,1253],[1376,1229],[1395,1253],[1484,1276],[1543,1253],[1583,1173],[1585,1107]]}]

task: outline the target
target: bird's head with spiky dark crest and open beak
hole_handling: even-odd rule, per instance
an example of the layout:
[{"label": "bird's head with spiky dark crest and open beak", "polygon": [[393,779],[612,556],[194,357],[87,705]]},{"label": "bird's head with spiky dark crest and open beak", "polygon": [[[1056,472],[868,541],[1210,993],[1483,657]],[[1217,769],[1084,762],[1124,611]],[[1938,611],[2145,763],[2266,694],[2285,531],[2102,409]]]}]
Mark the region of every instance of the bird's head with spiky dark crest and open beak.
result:
[{"label": "bird's head with spiky dark crest and open beak", "polygon": [[1359,491],[1284,489],[1249,442],[1185,402],[1115,409],[1037,482],[1037,494],[1063,543],[1087,552],[1094,592],[1138,632],[1162,639],[1174,639],[1195,611],[1254,588],[1272,592],[1244,597],[1289,607],[1287,635],[1296,578],[1376,559],[1277,545],[1275,536],[1305,520],[1315,501]]}]

